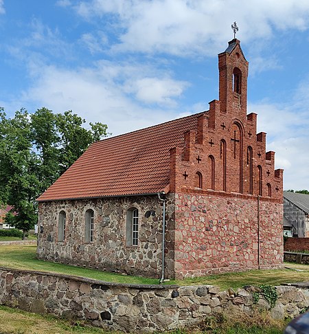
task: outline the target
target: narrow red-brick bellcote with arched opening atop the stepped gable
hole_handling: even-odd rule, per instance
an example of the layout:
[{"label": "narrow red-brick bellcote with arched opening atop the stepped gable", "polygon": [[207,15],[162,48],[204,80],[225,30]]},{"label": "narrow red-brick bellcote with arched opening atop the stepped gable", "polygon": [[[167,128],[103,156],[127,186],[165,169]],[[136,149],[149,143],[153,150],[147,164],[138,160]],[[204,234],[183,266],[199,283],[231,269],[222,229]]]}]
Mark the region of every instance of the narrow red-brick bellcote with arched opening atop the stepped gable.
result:
[{"label": "narrow red-brick bellcote with arched opening atop the stepped gable", "polygon": [[229,47],[218,54],[220,111],[231,117],[247,113],[247,78],[249,63],[234,38]]}]

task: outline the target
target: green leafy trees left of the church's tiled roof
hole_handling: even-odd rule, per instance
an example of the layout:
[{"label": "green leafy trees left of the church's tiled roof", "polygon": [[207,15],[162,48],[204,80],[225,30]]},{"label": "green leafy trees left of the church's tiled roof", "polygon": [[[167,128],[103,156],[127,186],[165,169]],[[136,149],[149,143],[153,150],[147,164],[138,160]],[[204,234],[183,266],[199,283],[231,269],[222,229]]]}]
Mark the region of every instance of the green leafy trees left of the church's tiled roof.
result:
[{"label": "green leafy trees left of the church's tiled roof", "polygon": [[106,124],[90,123],[72,111],[54,114],[47,108],[16,111],[7,118],[0,108],[0,203],[17,212],[12,222],[25,233],[37,221],[36,198],[89,144],[106,136]]}]

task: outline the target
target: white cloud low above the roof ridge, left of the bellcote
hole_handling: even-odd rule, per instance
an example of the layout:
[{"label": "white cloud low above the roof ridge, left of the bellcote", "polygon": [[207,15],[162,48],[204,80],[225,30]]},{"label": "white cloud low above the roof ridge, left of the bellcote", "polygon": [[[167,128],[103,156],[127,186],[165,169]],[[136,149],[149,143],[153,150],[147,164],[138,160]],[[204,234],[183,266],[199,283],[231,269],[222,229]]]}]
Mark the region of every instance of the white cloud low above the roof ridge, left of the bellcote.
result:
[{"label": "white cloud low above the roof ridge, left of the bellcote", "polygon": [[[41,64],[35,71],[36,80],[32,87],[23,92],[19,101],[21,106],[32,103],[48,107],[56,113],[72,109],[89,122],[106,123],[108,131],[113,135],[165,122],[175,118],[175,115],[177,117],[177,111],[172,109],[176,104],[173,99],[179,97],[185,84],[153,77],[152,84],[159,89],[157,88],[152,102],[159,104],[161,100],[167,100],[170,103],[158,108],[143,107],[127,91],[126,80],[130,78],[130,84],[137,87],[134,93],[141,100],[150,98],[147,89],[139,86],[139,81],[142,80],[139,78],[139,69],[133,65],[113,65],[109,62],[100,62],[93,68],[74,70]],[[148,69],[149,73],[152,71],[155,69]],[[160,90],[161,85],[165,87],[169,82],[176,88],[170,91]],[[4,104],[5,107],[7,105]]]}]

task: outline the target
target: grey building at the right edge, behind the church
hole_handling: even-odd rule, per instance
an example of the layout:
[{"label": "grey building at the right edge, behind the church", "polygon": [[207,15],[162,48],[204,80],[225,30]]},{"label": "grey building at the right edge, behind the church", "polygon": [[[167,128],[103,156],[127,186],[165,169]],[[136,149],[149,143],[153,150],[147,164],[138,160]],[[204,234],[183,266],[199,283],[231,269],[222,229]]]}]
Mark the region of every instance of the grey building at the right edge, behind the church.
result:
[{"label": "grey building at the right edge, behind the church", "polygon": [[309,238],[309,195],[284,192],[284,234]]}]

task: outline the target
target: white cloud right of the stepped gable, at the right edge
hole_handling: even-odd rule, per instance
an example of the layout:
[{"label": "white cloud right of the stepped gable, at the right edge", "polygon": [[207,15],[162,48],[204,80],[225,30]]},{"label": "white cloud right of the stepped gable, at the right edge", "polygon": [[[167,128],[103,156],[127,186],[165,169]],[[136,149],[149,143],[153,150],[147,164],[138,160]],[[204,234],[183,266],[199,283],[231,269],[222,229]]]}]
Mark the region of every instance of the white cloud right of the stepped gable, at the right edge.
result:
[{"label": "white cloud right of the stepped gable, at the right edge", "polygon": [[[275,151],[276,168],[284,169],[284,189],[309,190],[309,88],[297,87],[293,100],[284,104],[249,104],[258,113],[258,132],[268,133],[266,151]],[[302,99],[299,99],[299,96]]]}]

